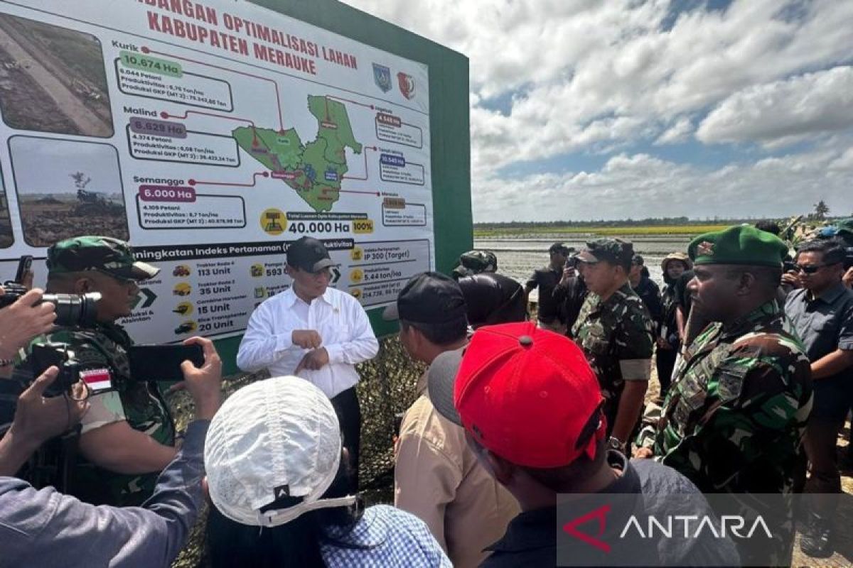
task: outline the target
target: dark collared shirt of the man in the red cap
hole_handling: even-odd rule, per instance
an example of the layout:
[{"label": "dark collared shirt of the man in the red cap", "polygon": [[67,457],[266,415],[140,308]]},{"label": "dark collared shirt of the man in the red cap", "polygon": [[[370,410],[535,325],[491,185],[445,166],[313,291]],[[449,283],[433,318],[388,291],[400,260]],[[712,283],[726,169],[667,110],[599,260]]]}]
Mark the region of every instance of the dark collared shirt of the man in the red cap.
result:
[{"label": "dark collared shirt of the man in the red cap", "polygon": [[[636,498],[619,497],[614,501],[613,510],[608,513],[606,532],[601,540],[617,543],[618,536],[630,513],[644,513],[663,518],[665,515],[708,515],[715,518],[710,505],[701,496],[699,490],[681,473],[667,468],[653,460],[629,461],[616,451],[607,452],[607,462],[612,468],[622,470],[622,475],[600,491],[601,495],[634,495]],[[683,499],[673,499],[673,494],[685,495]],[[689,496],[689,498],[687,497]],[[656,497],[656,498],[655,498]],[[560,508],[542,508],[525,511],[509,522],[502,539],[486,550],[492,551],[481,566],[485,568],[538,568],[557,565],[600,565],[595,557],[601,552],[589,544],[572,536],[560,533],[558,558],[557,531],[560,522],[572,520],[577,515],[574,509],[577,502],[564,503]],[[567,508],[571,506],[571,508]],[[620,510],[624,509],[624,510]],[[588,508],[581,506],[577,513],[587,513]],[[595,527],[595,521],[591,525]],[[595,535],[595,528],[589,529]],[[711,538],[705,533],[702,538],[659,539],[656,542],[621,542],[621,547],[613,547],[613,554],[630,554],[630,565],[740,565],[734,544],[728,539]],[[705,537],[707,536],[707,537]],[[653,545],[654,544],[654,545]],[[656,545],[656,546],[655,546]],[[641,555],[641,559],[637,556]],[[612,564],[608,557],[607,565]],[[638,562],[639,560],[639,562]],[[571,561],[571,564],[569,564]]]}]

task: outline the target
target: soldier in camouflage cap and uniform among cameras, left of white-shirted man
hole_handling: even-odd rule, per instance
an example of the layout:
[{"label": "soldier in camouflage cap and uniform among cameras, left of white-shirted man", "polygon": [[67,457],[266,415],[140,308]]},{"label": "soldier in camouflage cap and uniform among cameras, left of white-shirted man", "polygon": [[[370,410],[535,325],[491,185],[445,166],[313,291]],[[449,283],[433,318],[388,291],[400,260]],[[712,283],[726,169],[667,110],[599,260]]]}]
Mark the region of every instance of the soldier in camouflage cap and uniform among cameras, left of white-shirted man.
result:
[{"label": "soldier in camouflage cap and uniform among cameras, left of white-shirted man", "polygon": [[[67,343],[85,366],[110,370],[114,391],[90,397],[78,456],[69,466],[68,493],[94,504],[139,505],[154,490],[160,471],[176,455],[175,428],[154,382],[134,381],[127,349],[131,338],[115,320],[130,315],[137,282],[154,278],[159,268],[135,261],[131,247],[107,237],[77,237],[48,250],[47,290],[55,293],[100,292],[97,324],[90,329],[58,328],[38,341]],[[15,370],[22,384],[32,380],[25,359]],[[52,450],[56,451],[54,447]],[[50,456],[42,456],[48,463]],[[55,479],[33,479],[55,484]]]}]

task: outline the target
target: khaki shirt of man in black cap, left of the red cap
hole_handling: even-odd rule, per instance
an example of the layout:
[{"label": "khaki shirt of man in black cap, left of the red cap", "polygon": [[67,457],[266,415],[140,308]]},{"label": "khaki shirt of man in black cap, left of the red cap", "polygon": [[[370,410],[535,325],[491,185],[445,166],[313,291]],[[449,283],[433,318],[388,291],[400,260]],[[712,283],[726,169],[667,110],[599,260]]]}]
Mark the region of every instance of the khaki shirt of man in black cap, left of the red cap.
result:
[{"label": "khaki shirt of man in black cap, left of the red cap", "polygon": [[479,565],[519,504],[477,462],[465,430],[432,406],[426,376],[406,411],[395,451],[394,505],[421,518],[456,568]]}]

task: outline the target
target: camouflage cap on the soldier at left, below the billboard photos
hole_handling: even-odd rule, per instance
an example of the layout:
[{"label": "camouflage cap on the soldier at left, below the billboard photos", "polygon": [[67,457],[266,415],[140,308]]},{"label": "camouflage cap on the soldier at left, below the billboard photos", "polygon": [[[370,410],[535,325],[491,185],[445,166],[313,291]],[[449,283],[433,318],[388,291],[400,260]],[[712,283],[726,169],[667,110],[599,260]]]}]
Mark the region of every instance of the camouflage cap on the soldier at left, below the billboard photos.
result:
[{"label": "camouflage cap on the soldier at left, below the billboard photos", "polygon": [[67,238],[48,249],[49,274],[78,273],[97,270],[119,278],[148,280],[160,273],[160,268],[133,258],[131,245],[118,238]]}]

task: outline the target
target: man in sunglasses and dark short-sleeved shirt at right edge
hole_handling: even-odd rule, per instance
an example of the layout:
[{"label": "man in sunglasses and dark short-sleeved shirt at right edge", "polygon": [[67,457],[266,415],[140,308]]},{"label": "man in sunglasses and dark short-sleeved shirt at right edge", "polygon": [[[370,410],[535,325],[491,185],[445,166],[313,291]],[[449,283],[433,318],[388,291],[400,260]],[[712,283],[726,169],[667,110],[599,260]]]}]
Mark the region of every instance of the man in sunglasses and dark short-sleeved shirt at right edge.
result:
[{"label": "man in sunglasses and dark short-sleeved shirt at right edge", "polygon": [[835,446],[853,393],[853,291],[842,283],[844,248],[835,240],[814,240],[799,247],[794,268],[798,290],[785,302],[785,312],[803,340],[815,387],[805,450],[811,463],[806,490],[821,494],[813,503],[800,542],[805,554],[833,554],[832,529],[841,492]]}]

